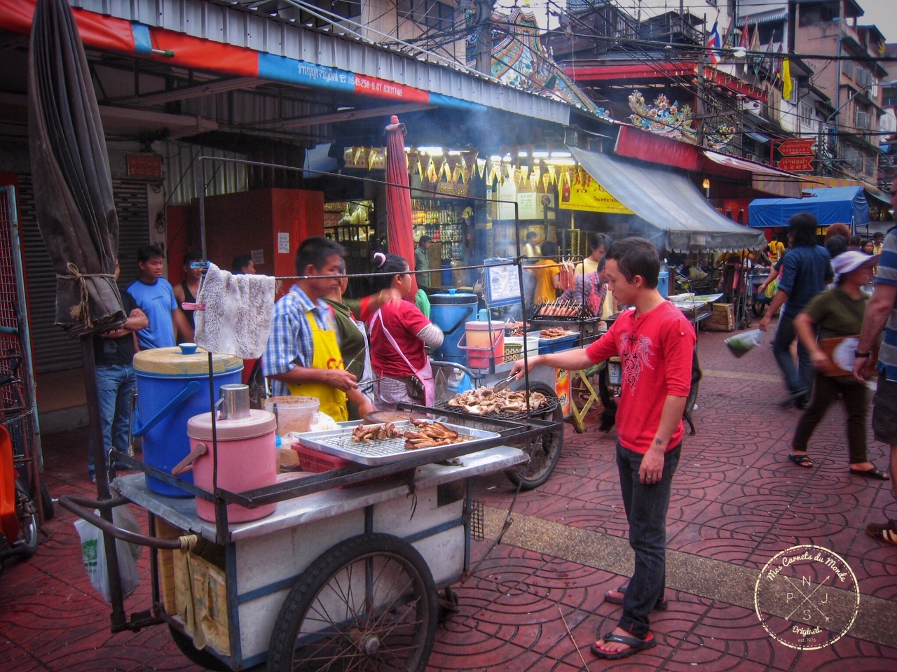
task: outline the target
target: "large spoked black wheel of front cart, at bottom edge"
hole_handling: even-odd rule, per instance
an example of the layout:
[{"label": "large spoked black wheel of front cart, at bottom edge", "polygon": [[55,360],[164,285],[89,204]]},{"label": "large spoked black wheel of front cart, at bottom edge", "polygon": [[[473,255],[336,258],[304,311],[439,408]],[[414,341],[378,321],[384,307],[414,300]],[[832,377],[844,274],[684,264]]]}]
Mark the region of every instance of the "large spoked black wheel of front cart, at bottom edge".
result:
[{"label": "large spoked black wheel of front cart, at bottom edge", "polygon": [[300,574],[268,646],[269,672],[423,672],[439,602],[430,568],[410,544],[363,534]]}]

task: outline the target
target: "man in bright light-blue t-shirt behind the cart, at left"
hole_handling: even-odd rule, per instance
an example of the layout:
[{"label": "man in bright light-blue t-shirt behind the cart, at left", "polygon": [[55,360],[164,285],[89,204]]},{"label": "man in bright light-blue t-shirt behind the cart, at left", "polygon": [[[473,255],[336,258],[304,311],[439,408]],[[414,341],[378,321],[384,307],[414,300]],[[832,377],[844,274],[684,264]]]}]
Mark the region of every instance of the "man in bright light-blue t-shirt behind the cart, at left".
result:
[{"label": "man in bright light-blue t-shirt behind the cart, at left", "polygon": [[134,297],[137,307],[150,321],[147,327],[137,332],[137,344],[142,350],[170,348],[176,342],[174,326],[179,316],[174,290],[169,281],[162,278],[165,255],[157,246],[141,247],[137,250],[137,265],[140,275],[127,288],[127,293]]}]

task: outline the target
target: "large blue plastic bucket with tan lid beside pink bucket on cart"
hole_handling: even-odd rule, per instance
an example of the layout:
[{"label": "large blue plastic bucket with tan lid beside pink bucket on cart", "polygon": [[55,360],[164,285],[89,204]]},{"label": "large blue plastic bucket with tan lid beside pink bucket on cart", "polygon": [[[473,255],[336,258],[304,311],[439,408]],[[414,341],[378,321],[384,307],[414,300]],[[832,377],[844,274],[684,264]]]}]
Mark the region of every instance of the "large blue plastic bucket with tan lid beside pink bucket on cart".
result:
[{"label": "large blue plastic bucket with tan lid beside pink bucket on cart", "polygon": [[[195,347],[195,346],[194,346]],[[186,354],[180,348],[141,350],[134,356],[137,378],[137,412],[131,418],[134,435],[144,438],[144,462],[165,473],[190,452],[187,420],[209,412],[209,355],[203,349]],[[213,355],[214,398],[221,386],[239,383],[243,360],[231,355]],[[180,475],[193,483],[193,472]],[[190,493],[146,476],[146,487],[159,495],[192,497]]]}]

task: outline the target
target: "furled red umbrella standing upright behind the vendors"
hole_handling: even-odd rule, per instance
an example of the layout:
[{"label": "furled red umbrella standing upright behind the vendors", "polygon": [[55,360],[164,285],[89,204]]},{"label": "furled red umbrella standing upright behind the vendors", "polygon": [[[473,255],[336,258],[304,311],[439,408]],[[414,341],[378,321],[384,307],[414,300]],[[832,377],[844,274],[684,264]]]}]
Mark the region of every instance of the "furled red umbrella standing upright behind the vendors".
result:
[{"label": "furled red umbrella standing upright behind the vendors", "polygon": [[[414,271],[414,219],[411,215],[411,189],[408,181],[408,157],[405,154],[405,124],[396,115],[387,126],[387,228],[389,252],[405,257]],[[417,277],[412,276],[411,298],[417,294]]]}]

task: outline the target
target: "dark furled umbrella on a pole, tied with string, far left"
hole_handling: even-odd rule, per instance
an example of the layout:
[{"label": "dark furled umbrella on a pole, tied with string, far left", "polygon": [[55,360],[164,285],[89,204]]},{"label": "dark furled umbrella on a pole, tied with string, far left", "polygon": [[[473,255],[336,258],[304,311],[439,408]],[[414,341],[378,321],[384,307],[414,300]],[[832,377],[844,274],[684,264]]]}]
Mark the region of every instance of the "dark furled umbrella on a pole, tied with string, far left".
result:
[{"label": "dark furled umbrella on a pole, tied with string, far left", "polygon": [[[40,235],[57,271],[57,324],[81,337],[97,493],[109,500],[94,333],[125,323],[115,281],[118,215],[100,109],[66,0],[38,0],[28,59],[28,134]],[[99,336],[97,336],[99,338]],[[100,507],[110,524],[112,512]],[[104,534],[112,624],[126,623],[116,541]]]}]

